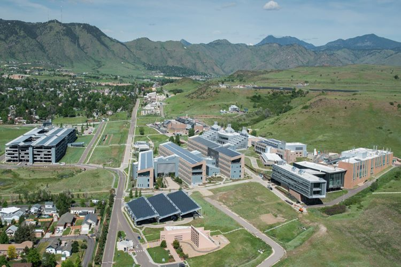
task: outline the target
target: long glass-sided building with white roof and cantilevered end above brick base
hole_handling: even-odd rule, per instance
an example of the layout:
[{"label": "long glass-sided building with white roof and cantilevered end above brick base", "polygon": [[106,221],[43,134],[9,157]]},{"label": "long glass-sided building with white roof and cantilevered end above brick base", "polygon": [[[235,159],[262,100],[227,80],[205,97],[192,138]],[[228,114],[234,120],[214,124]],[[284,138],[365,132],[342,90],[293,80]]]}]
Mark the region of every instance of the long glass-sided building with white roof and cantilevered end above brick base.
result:
[{"label": "long glass-sided building with white roof and cantilevered end above brick base", "polygon": [[273,165],[271,179],[279,182],[298,200],[303,197],[307,199],[326,197],[326,180],[289,164]]}]

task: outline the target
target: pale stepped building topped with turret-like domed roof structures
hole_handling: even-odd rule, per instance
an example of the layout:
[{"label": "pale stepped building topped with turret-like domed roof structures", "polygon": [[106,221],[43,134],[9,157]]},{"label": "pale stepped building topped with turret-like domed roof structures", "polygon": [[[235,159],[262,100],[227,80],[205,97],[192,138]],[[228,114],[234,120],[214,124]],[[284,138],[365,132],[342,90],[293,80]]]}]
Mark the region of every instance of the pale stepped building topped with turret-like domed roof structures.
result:
[{"label": "pale stepped building topped with turret-like domed roof structures", "polygon": [[209,130],[203,132],[202,137],[219,145],[229,144],[234,147],[234,150],[248,148],[248,132],[245,127],[241,131],[235,132],[231,128],[231,124],[228,124],[227,128],[223,129],[215,122]]}]

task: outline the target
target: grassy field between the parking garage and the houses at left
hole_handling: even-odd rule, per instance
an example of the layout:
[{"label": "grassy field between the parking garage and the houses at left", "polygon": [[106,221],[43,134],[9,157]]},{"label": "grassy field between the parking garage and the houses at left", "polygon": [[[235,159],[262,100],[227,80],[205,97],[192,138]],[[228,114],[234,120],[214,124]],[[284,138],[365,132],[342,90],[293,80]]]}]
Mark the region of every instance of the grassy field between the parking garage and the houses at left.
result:
[{"label": "grassy field between the parking garage and the houses at left", "polygon": [[48,189],[52,193],[101,191],[111,188],[113,175],[96,169],[83,171],[61,168],[58,171],[20,168],[0,171],[0,193],[20,193],[24,190]]}]

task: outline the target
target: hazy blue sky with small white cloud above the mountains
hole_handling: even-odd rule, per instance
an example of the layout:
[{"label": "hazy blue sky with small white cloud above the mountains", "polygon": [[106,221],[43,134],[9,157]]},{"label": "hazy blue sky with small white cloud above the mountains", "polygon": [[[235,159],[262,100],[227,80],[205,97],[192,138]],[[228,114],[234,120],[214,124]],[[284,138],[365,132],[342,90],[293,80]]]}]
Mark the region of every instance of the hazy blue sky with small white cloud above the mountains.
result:
[{"label": "hazy blue sky with small white cloud above the mountains", "polygon": [[400,0],[1,0],[0,18],[85,22],[130,41],[227,39],[256,44],[295,36],[315,45],[375,33],[401,41]]}]

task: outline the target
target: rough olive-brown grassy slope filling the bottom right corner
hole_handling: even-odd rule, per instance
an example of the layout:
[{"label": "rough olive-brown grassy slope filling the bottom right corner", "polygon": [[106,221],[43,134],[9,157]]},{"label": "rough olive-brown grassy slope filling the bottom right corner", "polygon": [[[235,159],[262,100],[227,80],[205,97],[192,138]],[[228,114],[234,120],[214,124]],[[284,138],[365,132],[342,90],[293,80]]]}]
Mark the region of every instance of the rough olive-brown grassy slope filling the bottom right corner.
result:
[{"label": "rough olive-brown grassy slope filling the bottom right corner", "polygon": [[[377,192],[401,187],[399,168],[379,181],[386,177],[394,180]],[[365,192],[356,195],[360,204],[350,205],[343,214],[328,217],[319,209],[308,209],[302,223],[316,227],[316,232],[288,251],[278,266],[400,266],[401,194]]]}]

